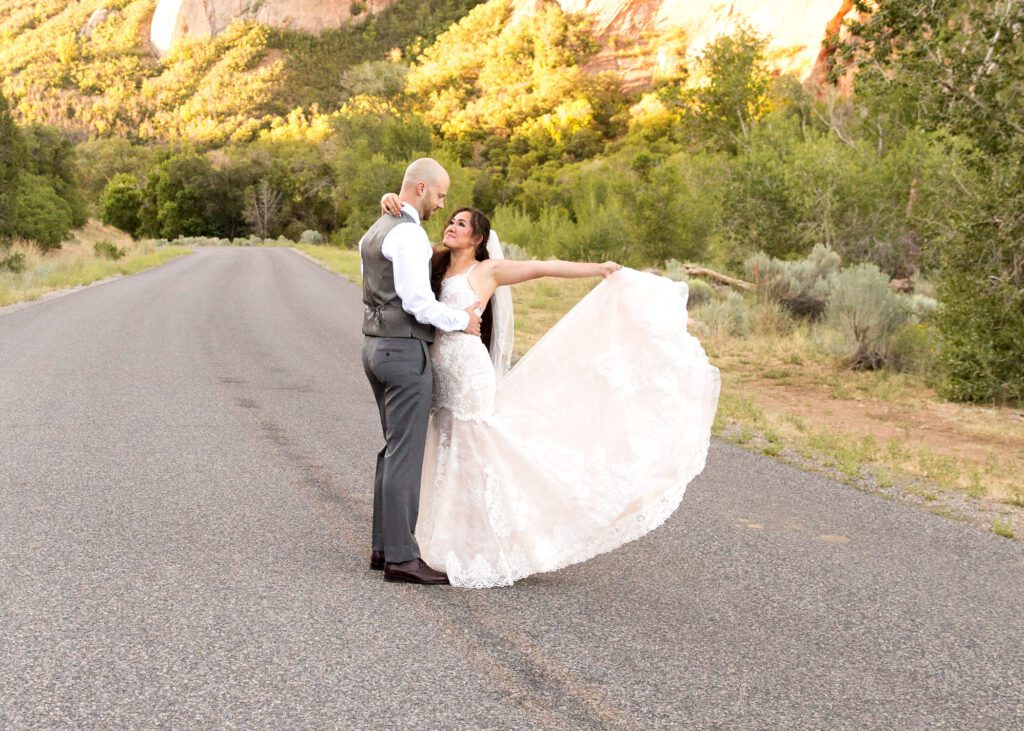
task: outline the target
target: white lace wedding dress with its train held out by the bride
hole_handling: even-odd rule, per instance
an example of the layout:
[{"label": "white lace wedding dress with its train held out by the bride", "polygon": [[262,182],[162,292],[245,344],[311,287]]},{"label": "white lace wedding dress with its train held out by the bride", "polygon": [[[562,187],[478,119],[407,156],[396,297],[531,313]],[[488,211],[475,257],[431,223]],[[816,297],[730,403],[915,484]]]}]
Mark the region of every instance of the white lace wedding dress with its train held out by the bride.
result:
[{"label": "white lace wedding dress with its train held out by the bride", "polygon": [[[469,272],[441,301],[477,301]],[[511,585],[640,538],[703,469],[719,373],[686,332],[685,285],[599,284],[496,389],[482,341],[438,333],[416,536],[457,587]]]}]

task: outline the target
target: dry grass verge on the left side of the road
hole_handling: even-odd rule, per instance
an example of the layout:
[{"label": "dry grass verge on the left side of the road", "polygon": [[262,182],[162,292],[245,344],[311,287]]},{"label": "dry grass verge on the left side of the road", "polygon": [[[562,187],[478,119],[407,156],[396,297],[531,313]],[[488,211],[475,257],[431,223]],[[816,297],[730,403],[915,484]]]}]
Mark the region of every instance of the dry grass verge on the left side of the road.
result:
[{"label": "dry grass verge on the left side of the road", "polygon": [[[97,256],[93,247],[101,241],[111,242],[123,250],[125,256],[116,261]],[[89,221],[60,249],[47,253],[27,242],[15,242],[3,256],[20,253],[27,266],[19,273],[0,271],[0,307],[111,276],[134,274],[188,251],[182,247],[158,249],[152,242],[134,242],[122,231],[98,221]]]}]

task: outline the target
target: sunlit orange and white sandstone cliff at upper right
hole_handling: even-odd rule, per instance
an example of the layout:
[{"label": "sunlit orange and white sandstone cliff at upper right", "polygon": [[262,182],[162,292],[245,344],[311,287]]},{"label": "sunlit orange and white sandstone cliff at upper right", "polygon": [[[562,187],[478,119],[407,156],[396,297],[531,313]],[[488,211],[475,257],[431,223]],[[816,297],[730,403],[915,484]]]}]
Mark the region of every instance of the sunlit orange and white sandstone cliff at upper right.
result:
[{"label": "sunlit orange and white sandstone cliff at upper right", "polygon": [[591,71],[614,71],[642,86],[698,54],[717,37],[749,23],[770,37],[769,58],[805,79],[816,72],[821,44],[852,11],[851,0],[559,0],[594,19],[604,47]]}]

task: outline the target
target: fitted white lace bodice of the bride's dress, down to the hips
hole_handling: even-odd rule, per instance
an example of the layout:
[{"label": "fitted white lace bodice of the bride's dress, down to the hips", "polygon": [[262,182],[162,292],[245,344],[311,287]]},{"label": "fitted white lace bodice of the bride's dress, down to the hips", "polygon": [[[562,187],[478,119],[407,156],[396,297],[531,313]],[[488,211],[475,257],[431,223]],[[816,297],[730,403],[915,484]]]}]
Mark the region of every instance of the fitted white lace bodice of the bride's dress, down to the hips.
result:
[{"label": "fitted white lace bodice of the bride's dress, down to the hips", "polygon": [[[464,309],[479,299],[469,284],[469,272],[475,266],[441,282],[441,302]],[[430,364],[434,372],[434,413],[446,410],[459,419],[474,420],[490,416],[495,408],[495,369],[483,341],[461,331],[439,333],[430,346]]]}]

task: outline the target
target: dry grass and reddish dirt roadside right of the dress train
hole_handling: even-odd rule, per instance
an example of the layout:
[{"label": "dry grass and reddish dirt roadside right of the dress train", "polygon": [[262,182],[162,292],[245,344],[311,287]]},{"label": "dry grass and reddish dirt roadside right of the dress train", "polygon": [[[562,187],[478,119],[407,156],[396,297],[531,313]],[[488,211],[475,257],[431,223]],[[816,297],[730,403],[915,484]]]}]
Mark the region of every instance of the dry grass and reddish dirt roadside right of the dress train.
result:
[{"label": "dry grass and reddish dirt roadside right of the dress train", "polygon": [[920,376],[853,372],[788,336],[705,341],[722,370],[718,429],[776,435],[853,476],[909,476],[941,490],[1024,504],[1024,415],[941,400]]}]

